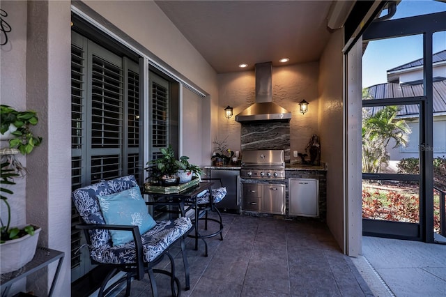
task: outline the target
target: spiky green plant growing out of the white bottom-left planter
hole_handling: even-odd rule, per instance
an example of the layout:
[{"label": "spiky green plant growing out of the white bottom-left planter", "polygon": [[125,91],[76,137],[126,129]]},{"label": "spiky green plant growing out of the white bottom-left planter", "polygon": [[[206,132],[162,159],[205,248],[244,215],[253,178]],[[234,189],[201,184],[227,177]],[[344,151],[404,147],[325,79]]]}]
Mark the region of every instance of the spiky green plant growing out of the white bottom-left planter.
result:
[{"label": "spiky green plant growing out of the white bottom-left planter", "polygon": [[15,185],[13,181],[14,177],[20,176],[17,174],[14,169],[8,169],[9,163],[3,162],[1,163],[1,171],[0,171],[0,198],[6,204],[6,208],[8,209],[8,219],[6,224],[3,224],[3,220],[0,219],[1,229],[0,229],[0,243],[4,243],[6,241],[20,238],[26,234],[34,235],[34,227],[28,225],[22,229],[17,227],[10,227],[10,218],[11,218],[11,208],[8,203],[8,197],[5,195],[13,195],[14,192],[8,188],[3,187],[3,185]]}]

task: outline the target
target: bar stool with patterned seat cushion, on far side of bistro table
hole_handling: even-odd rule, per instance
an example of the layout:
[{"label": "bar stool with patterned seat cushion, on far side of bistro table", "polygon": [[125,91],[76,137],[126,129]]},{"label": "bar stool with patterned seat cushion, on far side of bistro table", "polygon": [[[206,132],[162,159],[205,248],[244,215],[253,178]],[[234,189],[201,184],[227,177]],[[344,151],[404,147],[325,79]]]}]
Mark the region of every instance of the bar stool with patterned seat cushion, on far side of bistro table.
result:
[{"label": "bar stool with patterned seat cushion, on far side of bistro table", "polygon": [[[203,239],[204,245],[205,245],[205,253],[204,256],[208,257],[208,244],[206,241],[204,241],[204,238],[210,238],[213,236],[217,236],[220,234],[220,241],[223,240],[223,222],[222,222],[222,214],[218,210],[218,208],[215,206],[215,204],[219,203],[226,197],[226,188],[224,188],[222,179],[221,178],[201,178],[202,181],[212,181],[217,180],[220,181],[220,188],[214,188],[209,190],[204,190],[201,192],[195,199],[197,199],[197,204],[195,204],[195,201],[187,200],[185,201],[186,213],[189,210],[194,210],[194,212],[197,212],[198,220],[204,221],[204,230],[208,230],[208,221],[217,222],[219,224],[219,228],[217,231],[210,233],[210,234],[200,234],[199,230],[195,230],[195,234],[189,234],[188,237],[195,238],[195,250],[198,250],[198,239]],[[197,205],[197,206],[196,206]],[[197,209],[195,209],[197,207]],[[209,211],[214,211],[217,213],[218,218],[209,218],[208,213]],[[194,220],[192,220],[194,221]]]}]

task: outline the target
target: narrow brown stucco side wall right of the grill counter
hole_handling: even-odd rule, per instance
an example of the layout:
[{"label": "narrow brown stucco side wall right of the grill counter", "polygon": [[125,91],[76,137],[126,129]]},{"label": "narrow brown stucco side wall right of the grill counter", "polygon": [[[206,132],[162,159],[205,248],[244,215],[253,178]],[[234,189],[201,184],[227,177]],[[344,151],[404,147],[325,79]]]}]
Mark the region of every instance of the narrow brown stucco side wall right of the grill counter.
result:
[{"label": "narrow brown stucco side wall right of the grill counter", "polygon": [[[328,163],[327,224],[344,247],[344,97],[342,31],[332,33],[321,56],[319,75],[319,130],[321,155]],[[311,105],[310,105],[311,107]]]}]

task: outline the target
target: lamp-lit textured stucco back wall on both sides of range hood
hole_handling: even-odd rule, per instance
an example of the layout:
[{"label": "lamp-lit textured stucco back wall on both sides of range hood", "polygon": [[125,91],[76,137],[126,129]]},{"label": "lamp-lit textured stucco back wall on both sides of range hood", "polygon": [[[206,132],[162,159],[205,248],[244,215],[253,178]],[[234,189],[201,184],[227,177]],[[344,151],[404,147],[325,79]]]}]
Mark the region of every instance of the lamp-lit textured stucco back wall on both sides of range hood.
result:
[{"label": "lamp-lit textured stucco back wall on both sides of range hood", "polygon": [[[318,62],[272,68],[272,102],[291,112],[290,148],[304,152],[310,137],[318,134]],[[219,123],[218,139],[226,137],[229,148],[240,151],[240,128],[235,116],[255,101],[256,79],[254,71],[218,75]],[[299,112],[299,102],[309,102],[309,112]],[[234,116],[224,117],[224,108],[233,107]],[[322,144],[323,145],[323,144]],[[292,154],[291,154],[292,155]],[[323,160],[322,155],[322,160]],[[291,160],[298,158],[291,157]]]}]

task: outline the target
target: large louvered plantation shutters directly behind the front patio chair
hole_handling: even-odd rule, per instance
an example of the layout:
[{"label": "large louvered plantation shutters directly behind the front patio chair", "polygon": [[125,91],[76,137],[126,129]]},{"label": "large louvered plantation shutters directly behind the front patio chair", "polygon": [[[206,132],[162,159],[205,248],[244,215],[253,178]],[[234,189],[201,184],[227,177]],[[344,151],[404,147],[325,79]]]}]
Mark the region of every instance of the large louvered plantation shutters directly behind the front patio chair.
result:
[{"label": "large louvered plantation shutters directly behind the front patio chair", "polygon": [[[102,179],[141,176],[139,65],[72,32],[72,190]],[[141,181],[139,181],[141,182]],[[72,280],[89,257],[72,208]]]}]

